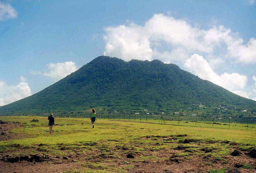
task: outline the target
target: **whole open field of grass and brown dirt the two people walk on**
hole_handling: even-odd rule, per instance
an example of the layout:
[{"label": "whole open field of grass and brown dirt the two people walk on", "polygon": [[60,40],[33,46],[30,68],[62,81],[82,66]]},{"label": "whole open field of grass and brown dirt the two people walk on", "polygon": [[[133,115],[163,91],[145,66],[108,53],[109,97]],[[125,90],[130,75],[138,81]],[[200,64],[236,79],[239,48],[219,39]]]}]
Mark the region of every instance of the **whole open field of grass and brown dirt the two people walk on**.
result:
[{"label": "whole open field of grass and brown dirt the two people walk on", "polygon": [[[0,172],[26,172],[33,163],[40,166],[37,172],[57,165],[57,172],[250,172],[256,167],[248,155],[256,149],[254,130],[107,119],[98,119],[93,129],[89,119],[56,118],[49,134],[47,117],[0,119],[12,122],[1,129],[0,157],[6,168]],[[234,150],[238,155],[231,155]]]}]

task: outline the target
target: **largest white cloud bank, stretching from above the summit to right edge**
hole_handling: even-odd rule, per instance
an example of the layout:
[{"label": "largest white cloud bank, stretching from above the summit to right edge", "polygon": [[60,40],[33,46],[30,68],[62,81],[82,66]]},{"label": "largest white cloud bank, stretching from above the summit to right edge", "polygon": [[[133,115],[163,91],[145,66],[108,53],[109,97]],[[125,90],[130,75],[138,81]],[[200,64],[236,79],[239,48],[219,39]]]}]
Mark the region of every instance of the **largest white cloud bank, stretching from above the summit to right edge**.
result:
[{"label": "largest white cloud bank, stretching from above the summit to right edge", "polygon": [[[105,55],[123,58],[165,62],[182,61],[195,53],[209,56],[218,54],[220,49],[226,58],[237,62],[256,63],[256,40],[248,43],[231,29],[212,26],[205,30],[185,20],[164,14],[155,14],[142,26],[134,23],[105,29]],[[213,56],[211,56],[213,57]]]}]

